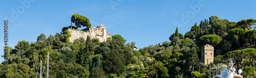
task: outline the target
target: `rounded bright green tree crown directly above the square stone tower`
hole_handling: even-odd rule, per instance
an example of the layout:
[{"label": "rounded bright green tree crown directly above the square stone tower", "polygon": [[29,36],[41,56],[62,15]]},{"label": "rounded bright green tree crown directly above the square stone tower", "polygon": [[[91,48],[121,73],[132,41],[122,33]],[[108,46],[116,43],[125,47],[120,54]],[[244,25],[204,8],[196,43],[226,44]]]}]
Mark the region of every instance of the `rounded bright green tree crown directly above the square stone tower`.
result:
[{"label": "rounded bright green tree crown directly above the square stone tower", "polygon": [[222,38],[216,34],[203,35],[199,38],[199,42],[202,45],[210,44],[210,45],[218,45],[222,41]]}]

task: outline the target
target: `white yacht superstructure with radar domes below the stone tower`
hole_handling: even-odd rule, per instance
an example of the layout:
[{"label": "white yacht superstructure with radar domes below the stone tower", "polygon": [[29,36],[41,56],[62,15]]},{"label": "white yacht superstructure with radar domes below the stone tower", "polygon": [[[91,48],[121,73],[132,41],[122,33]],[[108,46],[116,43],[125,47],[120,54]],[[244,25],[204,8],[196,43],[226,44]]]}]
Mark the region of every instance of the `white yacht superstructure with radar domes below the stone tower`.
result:
[{"label": "white yacht superstructure with radar domes below the stone tower", "polygon": [[221,71],[221,74],[220,75],[215,75],[214,78],[242,78],[243,76],[240,75],[242,73],[242,69],[239,69],[238,70],[238,73],[236,73],[236,68],[233,67],[233,60],[230,59],[230,68],[227,69],[228,66],[226,65],[222,65],[224,66],[222,71]]}]

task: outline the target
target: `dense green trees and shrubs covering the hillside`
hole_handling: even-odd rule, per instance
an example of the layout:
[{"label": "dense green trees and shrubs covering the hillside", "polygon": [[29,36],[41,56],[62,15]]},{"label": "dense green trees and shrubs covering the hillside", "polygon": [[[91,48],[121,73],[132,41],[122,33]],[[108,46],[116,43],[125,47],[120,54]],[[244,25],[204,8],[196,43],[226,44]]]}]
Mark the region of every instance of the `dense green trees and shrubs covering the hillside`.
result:
[{"label": "dense green trees and shrubs covering the hillside", "polygon": [[[208,77],[209,66],[212,77],[220,73],[221,65],[228,65],[230,57],[236,68],[243,69],[244,77],[256,77],[255,19],[230,22],[211,16],[195,23],[184,36],[177,27],[170,33],[170,42],[139,51],[134,50],[135,42],[127,43],[119,34],[106,42],[87,36],[71,43],[68,28],[91,27],[89,19],[78,14],[72,15],[71,22],[75,26],[63,27],[60,33],[48,37],[42,33],[36,42],[22,40],[10,47],[8,73],[3,61],[0,77],[38,77],[40,60],[46,66],[48,52],[50,77]],[[210,65],[198,62],[206,44],[215,49]],[[46,67],[43,72],[45,77]]]}]

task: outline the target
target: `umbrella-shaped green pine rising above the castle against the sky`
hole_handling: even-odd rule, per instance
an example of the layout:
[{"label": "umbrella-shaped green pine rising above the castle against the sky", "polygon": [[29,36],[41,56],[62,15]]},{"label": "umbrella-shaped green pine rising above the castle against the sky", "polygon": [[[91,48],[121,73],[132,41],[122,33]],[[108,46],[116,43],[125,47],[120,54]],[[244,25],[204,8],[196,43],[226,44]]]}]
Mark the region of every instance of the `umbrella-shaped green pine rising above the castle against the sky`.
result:
[{"label": "umbrella-shaped green pine rising above the castle against the sky", "polygon": [[81,26],[85,26],[85,27],[88,27],[88,28],[92,27],[92,24],[90,23],[90,20],[87,17],[79,15],[79,14],[73,14],[72,15],[71,24],[72,23],[75,23],[76,29],[78,29],[78,27],[81,27]]}]

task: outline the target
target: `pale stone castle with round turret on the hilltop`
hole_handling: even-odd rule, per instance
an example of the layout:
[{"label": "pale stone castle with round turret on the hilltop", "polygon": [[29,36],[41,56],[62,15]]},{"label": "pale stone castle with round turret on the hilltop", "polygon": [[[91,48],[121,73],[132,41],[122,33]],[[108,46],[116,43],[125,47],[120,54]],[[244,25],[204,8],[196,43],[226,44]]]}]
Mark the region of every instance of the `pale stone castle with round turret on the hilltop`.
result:
[{"label": "pale stone castle with round turret on the hilltop", "polygon": [[83,37],[85,40],[87,38],[87,35],[93,38],[99,38],[99,42],[104,42],[108,38],[112,37],[112,34],[109,32],[108,34],[106,33],[106,26],[104,25],[99,25],[96,28],[91,27],[91,28],[84,28],[82,30],[76,30],[76,29],[68,29],[69,33],[71,36],[69,37],[70,42],[74,42],[76,38]]}]

